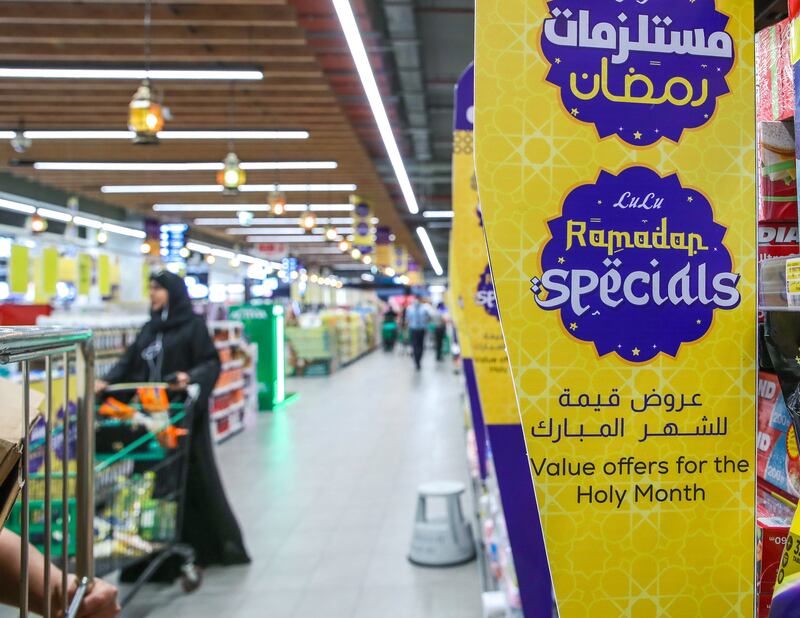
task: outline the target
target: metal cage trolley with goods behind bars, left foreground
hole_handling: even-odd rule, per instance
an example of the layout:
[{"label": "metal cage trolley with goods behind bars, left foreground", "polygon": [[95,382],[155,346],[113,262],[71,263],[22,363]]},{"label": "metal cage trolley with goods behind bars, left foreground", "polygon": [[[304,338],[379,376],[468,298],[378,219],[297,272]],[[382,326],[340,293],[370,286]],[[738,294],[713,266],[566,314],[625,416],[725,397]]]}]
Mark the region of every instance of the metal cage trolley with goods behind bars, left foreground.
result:
[{"label": "metal cage trolley with goods behind bars, left foreground", "polygon": [[[22,389],[22,439],[19,445],[19,534],[20,549],[19,615],[29,613],[29,552],[31,537],[30,470],[34,454],[41,465],[40,504],[37,511],[43,522],[42,551],[45,564],[58,557],[62,569],[61,589],[68,589],[67,574],[78,576],[78,588],[72,601],[62,595],[63,607],[51,606],[50,594],[43,599],[43,615],[54,611],[72,618],[94,575],[94,348],[91,332],[80,329],[0,327],[0,365],[18,368]],[[73,378],[74,371],[74,378]],[[72,383],[76,382],[75,388]],[[57,382],[60,386],[57,386]],[[44,402],[35,410],[31,405],[32,388],[43,391]],[[61,399],[60,410],[56,400]],[[70,405],[72,402],[72,405]],[[41,411],[39,413],[39,411]],[[34,437],[34,431],[36,437]],[[74,459],[64,444],[73,435]],[[62,444],[60,453],[54,445]],[[60,472],[54,474],[54,467]],[[60,491],[53,480],[60,478]],[[74,509],[70,510],[69,505]],[[60,511],[60,525],[54,534],[54,508]],[[57,551],[53,551],[53,538]],[[51,590],[50,569],[44,570],[44,590]]]}]

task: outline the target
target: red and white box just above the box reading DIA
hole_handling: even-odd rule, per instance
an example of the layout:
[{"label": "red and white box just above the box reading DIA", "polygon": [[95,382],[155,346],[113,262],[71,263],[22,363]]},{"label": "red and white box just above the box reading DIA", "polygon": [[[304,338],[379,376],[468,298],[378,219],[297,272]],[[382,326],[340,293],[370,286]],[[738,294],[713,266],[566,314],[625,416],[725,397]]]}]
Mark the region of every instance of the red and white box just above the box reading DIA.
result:
[{"label": "red and white box just above the box reading DIA", "polygon": [[758,123],[758,220],[797,223],[794,122]]}]

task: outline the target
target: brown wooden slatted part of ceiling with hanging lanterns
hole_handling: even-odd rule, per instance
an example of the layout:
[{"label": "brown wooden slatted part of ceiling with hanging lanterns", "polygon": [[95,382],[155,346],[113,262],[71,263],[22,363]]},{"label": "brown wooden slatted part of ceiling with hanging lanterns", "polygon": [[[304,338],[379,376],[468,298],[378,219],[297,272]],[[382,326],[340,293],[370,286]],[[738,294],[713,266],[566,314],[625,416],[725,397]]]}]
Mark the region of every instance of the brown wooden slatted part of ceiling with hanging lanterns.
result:
[{"label": "brown wooden slatted part of ceiling with hanging lanterns", "polygon": [[[360,16],[368,14],[360,0],[353,6]],[[6,66],[141,66],[143,7],[140,0],[0,1],[0,58]],[[364,18],[362,27],[370,52],[375,51],[371,62],[379,84],[391,103],[384,54],[375,49],[370,20]],[[406,209],[396,187],[381,176],[385,150],[330,0],[155,0],[151,63],[154,67],[263,68],[264,79],[258,82],[159,82],[164,104],[173,116],[167,128],[309,131],[308,140],[239,141],[235,150],[242,161],[334,160],[337,169],[250,171],[248,184],[357,184],[357,193],[373,205],[381,223],[390,226],[398,242],[427,266],[413,227],[402,215]],[[26,129],[125,129],[127,105],[137,85],[124,80],[0,79],[0,128],[14,129],[24,122]],[[396,106],[387,108],[402,138],[403,119]],[[227,151],[224,140],[162,140],[156,147],[125,140],[34,140],[20,155],[7,141],[0,142],[5,171],[143,215],[152,215],[156,202],[219,203],[226,198],[213,193],[108,195],[100,191],[103,185],[214,184],[214,172],[59,172],[12,162],[213,162],[221,161]],[[349,194],[296,192],[288,194],[288,199],[343,203]],[[262,204],[266,199],[266,193],[230,198]],[[287,223],[295,222],[297,216],[293,213]],[[203,231],[223,235],[223,229]]]}]

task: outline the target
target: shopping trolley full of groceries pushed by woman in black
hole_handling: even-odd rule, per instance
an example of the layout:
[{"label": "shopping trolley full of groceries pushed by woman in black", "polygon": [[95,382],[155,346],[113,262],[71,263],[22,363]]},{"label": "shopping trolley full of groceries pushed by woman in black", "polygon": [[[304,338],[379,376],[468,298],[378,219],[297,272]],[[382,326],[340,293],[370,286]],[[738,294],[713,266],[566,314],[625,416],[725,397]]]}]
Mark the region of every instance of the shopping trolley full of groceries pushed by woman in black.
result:
[{"label": "shopping trolley full of groceries pushed by woman in black", "polygon": [[[139,569],[125,607],[170,558],[185,592],[201,584],[194,550],[180,542],[192,417],[200,388],[170,402],[168,383],[106,388],[97,411],[95,570]],[[174,391],[173,391],[174,392]]]}]

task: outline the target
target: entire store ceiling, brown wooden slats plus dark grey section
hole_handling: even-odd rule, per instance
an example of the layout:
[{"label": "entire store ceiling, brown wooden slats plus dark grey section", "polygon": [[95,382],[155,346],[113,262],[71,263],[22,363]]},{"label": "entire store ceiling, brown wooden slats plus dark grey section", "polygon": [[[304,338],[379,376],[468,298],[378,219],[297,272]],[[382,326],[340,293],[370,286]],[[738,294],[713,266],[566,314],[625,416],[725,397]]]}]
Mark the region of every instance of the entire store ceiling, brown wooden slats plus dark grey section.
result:
[{"label": "entire store ceiling, brown wooden slats plus dark grey section", "polygon": [[[451,205],[453,86],[472,59],[470,0],[351,0],[370,62],[423,210]],[[142,0],[0,0],[0,58],[10,66],[141,66]],[[756,24],[784,17],[785,0],[757,0]],[[243,161],[335,160],[338,169],[251,171],[248,183],[355,183],[382,224],[428,267],[414,228],[425,225],[446,267],[450,224],[410,215],[367,104],[331,0],[154,0],[154,66],[263,68],[259,82],[160,82],[169,129],[305,129],[303,141],[239,141]],[[131,81],[0,79],[0,129],[124,129]],[[233,95],[235,104],[231,105]],[[220,161],[225,141],[34,141],[22,155],[0,142],[4,171],[152,216],[156,202],[219,203],[216,194],[105,195],[102,185],[213,184],[213,172],[55,172],[25,161]],[[349,192],[291,193],[292,203],[343,203]],[[266,194],[232,202],[263,203]],[[337,213],[342,216],[345,213]],[[203,213],[200,216],[213,216]],[[218,216],[232,216],[230,213]],[[325,216],[325,215],[321,215]],[[295,213],[287,217],[291,225]],[[203,232],[226,237],[224,228]],[[309,261],[347,263],[335,252]]]}]

